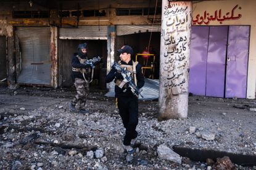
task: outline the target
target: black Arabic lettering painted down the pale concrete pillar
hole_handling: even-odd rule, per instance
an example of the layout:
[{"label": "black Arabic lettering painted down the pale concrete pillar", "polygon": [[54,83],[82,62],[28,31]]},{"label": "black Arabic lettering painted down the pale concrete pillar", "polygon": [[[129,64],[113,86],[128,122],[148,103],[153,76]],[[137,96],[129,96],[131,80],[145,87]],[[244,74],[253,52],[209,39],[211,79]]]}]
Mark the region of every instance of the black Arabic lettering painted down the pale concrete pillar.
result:
[{"label": "black Arabic lettering painted down the pale concrete pillar", "polygon": [[191,3],[168,1],[161,30],[163,85],[173,95],[188,92]]}]

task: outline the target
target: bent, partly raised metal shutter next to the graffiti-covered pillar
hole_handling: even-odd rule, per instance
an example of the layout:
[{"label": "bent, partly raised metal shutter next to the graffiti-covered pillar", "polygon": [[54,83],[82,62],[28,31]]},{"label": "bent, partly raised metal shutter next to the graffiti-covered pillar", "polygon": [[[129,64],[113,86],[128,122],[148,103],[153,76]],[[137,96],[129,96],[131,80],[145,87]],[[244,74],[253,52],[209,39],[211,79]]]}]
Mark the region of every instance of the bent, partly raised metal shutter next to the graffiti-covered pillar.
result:
[{"label": "bent, partly raised metal shutter next to the graffiti-covered pillar", "polygon": [[118,25],[117,36],[123,36],[136,33],[160,32],[160,25]]}]

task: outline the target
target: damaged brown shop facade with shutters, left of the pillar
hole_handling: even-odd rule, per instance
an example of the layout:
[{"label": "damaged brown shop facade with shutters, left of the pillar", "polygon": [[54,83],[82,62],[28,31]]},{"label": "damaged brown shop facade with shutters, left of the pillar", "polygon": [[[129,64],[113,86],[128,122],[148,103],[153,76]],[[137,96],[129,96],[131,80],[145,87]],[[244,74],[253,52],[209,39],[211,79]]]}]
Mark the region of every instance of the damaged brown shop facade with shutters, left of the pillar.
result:
[{"label": "damaged brown shop facade with shutters, left of the pillar", "polygon": [[142,52],[151,36],[160,50],[161,3],[2,1],[1,80],[7,77],[10,85],[70,87],[73,53],[87,42],[89,58],[102,57],[93,85],[104,88],[106,72],[118,59],[117,48],[130,44],[134,53]]}]

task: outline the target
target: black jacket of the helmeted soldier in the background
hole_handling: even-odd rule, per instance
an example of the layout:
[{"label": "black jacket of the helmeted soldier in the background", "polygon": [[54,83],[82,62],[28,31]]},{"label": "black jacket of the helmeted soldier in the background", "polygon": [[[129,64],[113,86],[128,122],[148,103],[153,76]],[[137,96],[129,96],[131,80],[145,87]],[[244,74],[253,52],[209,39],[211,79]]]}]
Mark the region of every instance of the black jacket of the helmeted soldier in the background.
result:
[{"label": "black jacket of the helmeted soldier in the background", "polygon": [[[76,55],[78,55],[77,53],[74,53],[73,58],[72,58],[72,67],[73,68],[85,68],[87,69],[86,71],[88,71],[89,66],[86,66],[85,64],[81,64],[79,59],[76,57]],[[81,57],[82,59],[88,59],[87,56]],[[79,78],[79,79],[84,79],[83,78],[83,74],[81,74],[81,72],[77,72],[77,71],[72,71],[73,73],[73,79],[75,78]],[[85,74],[85,78],[88,80],[88,74]]]}]

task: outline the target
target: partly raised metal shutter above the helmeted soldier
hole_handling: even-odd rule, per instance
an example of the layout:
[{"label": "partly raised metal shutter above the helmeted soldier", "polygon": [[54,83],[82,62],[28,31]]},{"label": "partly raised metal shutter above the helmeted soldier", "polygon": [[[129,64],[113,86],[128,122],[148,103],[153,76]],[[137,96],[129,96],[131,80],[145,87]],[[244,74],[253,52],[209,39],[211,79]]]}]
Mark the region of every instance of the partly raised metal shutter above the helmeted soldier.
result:
[{"label": "partly raised metal shutter above the helmeted soldier", "polygon": [[60,28],[60,39],[107,39],[107,26],[79,26]]}]

